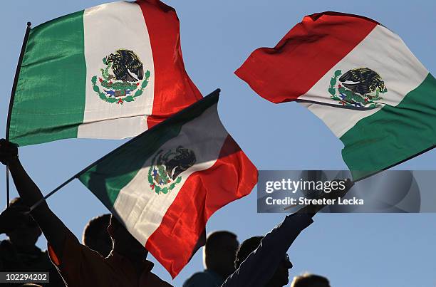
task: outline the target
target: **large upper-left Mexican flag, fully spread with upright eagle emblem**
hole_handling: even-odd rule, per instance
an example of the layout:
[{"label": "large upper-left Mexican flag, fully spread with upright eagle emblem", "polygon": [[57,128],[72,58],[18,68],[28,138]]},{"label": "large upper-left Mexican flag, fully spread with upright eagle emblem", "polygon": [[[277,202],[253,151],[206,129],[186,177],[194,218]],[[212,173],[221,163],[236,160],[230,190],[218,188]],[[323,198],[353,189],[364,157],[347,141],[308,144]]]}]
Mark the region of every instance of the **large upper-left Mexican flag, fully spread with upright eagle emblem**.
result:
[{"label": "large upper-left Mexican flag, fully spread with upright eagle emblem", "polygon": [[174,9],[157,0],[103,4],[31,29],[10,140],[133,137],[200,98]]}]

